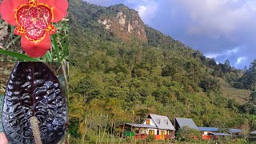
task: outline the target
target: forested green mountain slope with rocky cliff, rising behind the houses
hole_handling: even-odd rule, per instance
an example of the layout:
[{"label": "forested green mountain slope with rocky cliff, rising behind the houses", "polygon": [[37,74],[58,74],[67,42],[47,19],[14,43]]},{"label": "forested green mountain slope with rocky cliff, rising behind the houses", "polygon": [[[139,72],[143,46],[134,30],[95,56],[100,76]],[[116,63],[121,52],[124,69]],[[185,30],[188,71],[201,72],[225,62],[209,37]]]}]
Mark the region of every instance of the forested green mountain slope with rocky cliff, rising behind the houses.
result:
[{"label": "forested green mountain slope with rocky cliff, rising behind the houses", "polygon": [[70,2],[75,138],[82,137],[84,119],[86,128],[104,130],[107,118],[111,132],[114,124],[139,122],[149,113],[193,118],[197,126],[242,128],[248,122],[255,129],[251,91],[240,85],[244,73],[146,26],[127,6]]}]

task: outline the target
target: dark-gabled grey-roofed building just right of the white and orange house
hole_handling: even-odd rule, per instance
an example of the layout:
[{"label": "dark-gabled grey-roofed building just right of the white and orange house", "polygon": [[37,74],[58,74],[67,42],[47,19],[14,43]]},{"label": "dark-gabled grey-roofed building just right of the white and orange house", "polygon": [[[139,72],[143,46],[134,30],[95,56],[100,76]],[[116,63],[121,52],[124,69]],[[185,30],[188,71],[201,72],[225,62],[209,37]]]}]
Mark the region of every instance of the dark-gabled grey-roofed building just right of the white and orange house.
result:
[{"label": "dark-gabled grey-roofed building just right of the white and orange house", "polygon": [[187,126],[191,129],[198,130],[198,126],[194,123],[192,118],[175,118],[174,120],[175,130],[180,130],[184,126]]}]

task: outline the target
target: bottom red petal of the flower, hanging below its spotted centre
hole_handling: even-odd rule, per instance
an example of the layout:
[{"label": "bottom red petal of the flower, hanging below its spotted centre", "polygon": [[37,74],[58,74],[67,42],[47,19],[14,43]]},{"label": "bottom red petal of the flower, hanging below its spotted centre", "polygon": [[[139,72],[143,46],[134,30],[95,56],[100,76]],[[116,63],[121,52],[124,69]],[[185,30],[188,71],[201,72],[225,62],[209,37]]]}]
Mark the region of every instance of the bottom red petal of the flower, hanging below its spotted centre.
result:
[{"label": "bottom red petal of the flower, hanging below its spotted centre", "polygon": [[46,37],[40,42],[32,42],[22,36],[22,50],[26,52],[31,58],[43,57],[47,50],[50,50],[50,35],[46,34]]}]

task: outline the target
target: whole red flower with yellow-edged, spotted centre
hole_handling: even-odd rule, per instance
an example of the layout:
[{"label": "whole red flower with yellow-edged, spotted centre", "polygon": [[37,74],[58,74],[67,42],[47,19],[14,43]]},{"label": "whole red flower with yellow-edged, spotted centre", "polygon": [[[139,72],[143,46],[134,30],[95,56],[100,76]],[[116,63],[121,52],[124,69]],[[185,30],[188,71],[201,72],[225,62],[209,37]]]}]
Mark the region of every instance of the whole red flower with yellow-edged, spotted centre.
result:
[{"label": "whole red flower with yellow-edged, spotted centre", "polygon": [[56,32],[51,23],[61,21],[67,8],[67,0],[3,0],[0,14],[17,26],[14,33],[22,36],[22,50],[35,58],[50,50],[50,34]]}]

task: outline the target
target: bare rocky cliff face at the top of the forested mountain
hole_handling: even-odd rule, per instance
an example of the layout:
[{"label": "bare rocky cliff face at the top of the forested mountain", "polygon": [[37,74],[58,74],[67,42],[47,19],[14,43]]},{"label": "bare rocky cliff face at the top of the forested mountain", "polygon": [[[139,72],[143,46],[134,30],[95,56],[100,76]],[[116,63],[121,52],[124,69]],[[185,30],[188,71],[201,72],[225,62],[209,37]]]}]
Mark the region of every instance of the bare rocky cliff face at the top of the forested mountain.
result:
[{"label": "bare rocky cliff face at the top of the forested mountain", "polygon": [[136,10],[123,4],[109,6],[106,10],[107,14],[99,14],[98,18],[98,22],[104,25],[106,30],[126,41],[132,38],[147,41],[144,22]]}]

